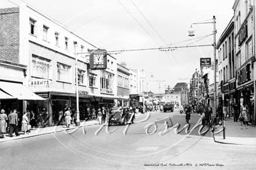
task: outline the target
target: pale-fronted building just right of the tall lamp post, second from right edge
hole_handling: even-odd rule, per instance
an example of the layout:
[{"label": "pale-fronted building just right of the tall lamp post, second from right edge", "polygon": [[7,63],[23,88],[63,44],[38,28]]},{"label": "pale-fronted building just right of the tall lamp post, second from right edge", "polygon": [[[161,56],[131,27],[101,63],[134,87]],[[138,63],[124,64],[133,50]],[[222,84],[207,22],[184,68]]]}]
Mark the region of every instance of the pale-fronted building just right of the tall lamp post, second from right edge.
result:
[{"label": "pale-fronted building just right of the tall lamp post, second from right edge", "polygon": [[[221,84],[218,86],[218,99],[221,104],[229,108],[236,103],[236,91],[233,82],[236,82],[235,60],[234,60],[234,17],[230,20],[226,29],[222,32],[221,37],[216,45],[218,51],[218,74],[219,82],[223,82],[223,91]],[[224,102],[222,101],[222,92]]]}]

